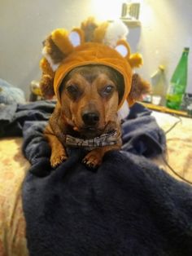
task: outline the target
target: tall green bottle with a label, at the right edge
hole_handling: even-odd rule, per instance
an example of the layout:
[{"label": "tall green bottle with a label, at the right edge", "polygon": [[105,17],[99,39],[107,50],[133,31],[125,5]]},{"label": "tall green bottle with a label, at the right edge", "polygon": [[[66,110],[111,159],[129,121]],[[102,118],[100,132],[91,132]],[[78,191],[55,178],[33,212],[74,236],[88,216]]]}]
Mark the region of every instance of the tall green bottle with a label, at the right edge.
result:
[{"label": "tall green bottle with a label, at the right edge", "polygon": [[166,106],[168,108],[180,109],[183,95],[187,86],[187,66],[190,48],[184,48],[177,68],[172,74],[168,93],[166,95]]}]

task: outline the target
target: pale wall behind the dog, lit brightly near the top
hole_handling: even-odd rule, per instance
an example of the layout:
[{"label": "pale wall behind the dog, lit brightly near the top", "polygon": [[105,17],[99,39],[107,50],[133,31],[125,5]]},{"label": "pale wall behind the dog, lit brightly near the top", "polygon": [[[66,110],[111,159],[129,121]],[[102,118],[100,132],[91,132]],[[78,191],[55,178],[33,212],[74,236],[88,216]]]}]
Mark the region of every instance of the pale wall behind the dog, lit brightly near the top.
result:
[{"label": "pale wall behind the dog, lit brightly near the top", "polygon": [[[120,17],[121,0],[1,0],[0,1],[0,77],[22,88],[39,79],[41,42],[51,30],[71,29],[81,20],[95,15],[98,20]],[[130,29],[133,51],[140,51],[144,66],[138,72],[146,79],[159,64],[166,65],[168,79],[184,46],[192,52],[191,0],[143,0],[142,27]],[[192,70],[190,52],[189,71]],[[188,91],[192,93],[189,72]]]}]

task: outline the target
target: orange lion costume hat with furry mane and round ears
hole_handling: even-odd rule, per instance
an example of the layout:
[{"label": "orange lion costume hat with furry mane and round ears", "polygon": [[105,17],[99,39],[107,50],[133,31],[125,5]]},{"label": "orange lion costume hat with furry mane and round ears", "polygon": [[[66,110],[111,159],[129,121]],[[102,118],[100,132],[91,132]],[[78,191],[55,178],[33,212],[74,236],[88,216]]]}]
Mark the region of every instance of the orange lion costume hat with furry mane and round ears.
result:
[{"label": "orange lion costume hat with furry mane and round ears", "polygon": [[131,54],[126,42],[128,29],[122,21],[96,24],[89,18],[80,29],[56,29],[44,42],[41,60],[41,87],[53,87],[60,101],[59,86],[63,78],[76,67],[88,64],[102,64],[116,69],[124,77],[124,94],[119,101],[119,108],[129,99],[132,85],[133,68],[142,64],[142,56]]}]

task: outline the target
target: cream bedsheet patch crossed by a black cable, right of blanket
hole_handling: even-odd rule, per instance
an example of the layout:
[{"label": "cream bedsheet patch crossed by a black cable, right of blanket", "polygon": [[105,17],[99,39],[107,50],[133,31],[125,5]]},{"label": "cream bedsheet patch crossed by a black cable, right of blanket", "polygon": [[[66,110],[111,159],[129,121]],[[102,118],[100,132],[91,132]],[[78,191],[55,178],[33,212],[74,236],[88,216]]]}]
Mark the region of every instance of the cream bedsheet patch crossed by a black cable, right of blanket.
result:
[{"label": "cream bedsheet patch crossed by a black cable, right of blanket", "polygon": [[[168,164],[177,174],[192,183],[192,118],[159,112],[153,112],[152,116],[166,133]],[[178,179],[177,175],[172,173],[172,170],[164,163],[162,157],[154,161]]]}]

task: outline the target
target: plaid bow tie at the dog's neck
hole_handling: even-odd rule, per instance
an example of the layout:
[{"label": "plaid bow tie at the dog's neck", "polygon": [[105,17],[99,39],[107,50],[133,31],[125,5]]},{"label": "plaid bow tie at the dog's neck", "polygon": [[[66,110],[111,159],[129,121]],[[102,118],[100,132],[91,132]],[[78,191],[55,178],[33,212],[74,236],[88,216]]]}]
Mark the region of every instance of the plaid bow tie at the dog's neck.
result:
[{"label": "plaid bow tie at the dog's neck", "polygon": [[85,150],[93,150],[103,146],[116,145],[120,142],[120,134],[116,130],[112,130],[106,134],[100,135],[93,139],[80,139],[71,135],[66,135],[65,145],[74,148],[85,148]]}]

